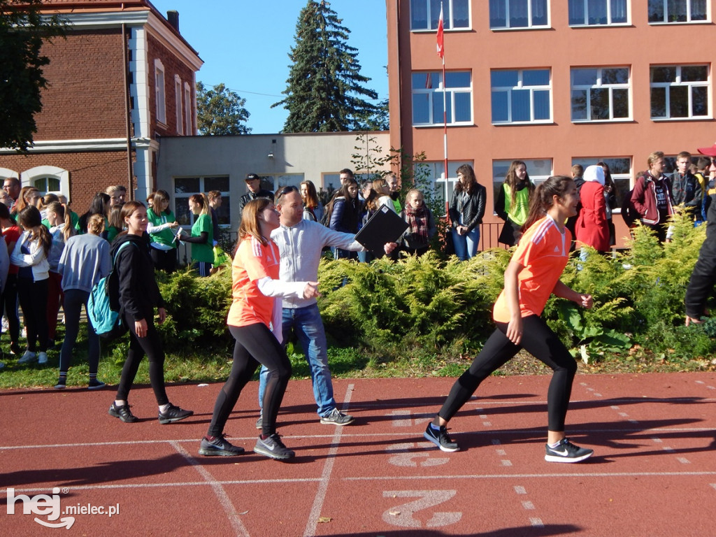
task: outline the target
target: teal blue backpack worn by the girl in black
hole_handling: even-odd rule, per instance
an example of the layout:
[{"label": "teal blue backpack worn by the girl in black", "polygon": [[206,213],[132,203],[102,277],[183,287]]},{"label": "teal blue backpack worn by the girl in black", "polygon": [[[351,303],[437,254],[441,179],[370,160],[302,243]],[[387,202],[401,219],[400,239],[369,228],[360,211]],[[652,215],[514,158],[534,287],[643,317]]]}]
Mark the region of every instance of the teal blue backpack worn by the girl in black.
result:
[{"label": "teal blue backpack worn by the girl in black", "polygon": [[115,274],[117,256],[127,244],[130,244],[130,241],[117,248],[110,274],[107,274],[92,287],[92,292],[87,300],[87,319],[92,323],[97,335],[105,339],[115,339],[127,332],[127,326],[120,316],[120,286],[117,274]]}]

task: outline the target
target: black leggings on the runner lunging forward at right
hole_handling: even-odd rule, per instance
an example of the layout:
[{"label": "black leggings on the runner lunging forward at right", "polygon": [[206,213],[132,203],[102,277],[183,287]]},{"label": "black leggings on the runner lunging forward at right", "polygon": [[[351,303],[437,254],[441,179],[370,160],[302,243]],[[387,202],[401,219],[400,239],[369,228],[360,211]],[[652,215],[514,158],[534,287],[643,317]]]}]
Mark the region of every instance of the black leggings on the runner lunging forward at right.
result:
[{"label": "black leggings on the runner lunging forward at right", "polygon": [[450,421],[460,408],[472,397],[480,382],[508,362],[520,349],[525,349],[541,362],[553,369],[552,380],[547,393],[549,430],[562,432],[567,414],[572,381],[577,364],[569,351],[546,322],[539,316],[531,315],[522,319],[522,342],[516,345],[507,339],[507,323],[497,323],[497,329],[485,342],[485,347],[473,360],[470,368],[453,384],[448,399],[437,415]]}]

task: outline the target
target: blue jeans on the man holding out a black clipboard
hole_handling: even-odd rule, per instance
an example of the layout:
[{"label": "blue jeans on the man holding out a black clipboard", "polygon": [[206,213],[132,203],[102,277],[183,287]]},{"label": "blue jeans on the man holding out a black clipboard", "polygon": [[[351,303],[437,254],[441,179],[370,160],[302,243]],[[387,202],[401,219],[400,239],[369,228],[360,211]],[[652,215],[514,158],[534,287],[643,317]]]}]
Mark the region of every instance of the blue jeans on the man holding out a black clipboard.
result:
[{"label": "blue jeans on the man holding out a black clipboard", "polygon": [[[333,398],[331,370],[328,368],[326,332],[318,311],[318,304],[304,308],[284,308],[283,323],[284,344],[291,336],[291,329],[296,331],[301,349],[303,349],[306,361],[309,362],[311,368],[311,382],[316,405],[318,405],[318,414],[321,417],[327,416],[336,407],[336,400]],[[269,369],[262,366],[258,384],[259,406],[263,403],[263,392],[266,390],[268,377]]]}]

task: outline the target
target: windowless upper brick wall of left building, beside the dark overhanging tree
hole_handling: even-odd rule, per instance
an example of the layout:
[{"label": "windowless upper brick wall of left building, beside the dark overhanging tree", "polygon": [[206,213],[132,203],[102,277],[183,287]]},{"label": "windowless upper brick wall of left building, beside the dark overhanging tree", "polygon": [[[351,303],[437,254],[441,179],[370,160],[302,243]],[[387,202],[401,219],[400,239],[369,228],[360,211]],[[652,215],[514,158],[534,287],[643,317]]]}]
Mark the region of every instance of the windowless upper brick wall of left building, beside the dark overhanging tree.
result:
[{"label": "windowless upper brick wall of left building, beside the dark overhanging tree", "polygon": [[72,31],[42,52],[49,84],[36,117],[40,140],[117,138],[126,135],[120,29]]}]

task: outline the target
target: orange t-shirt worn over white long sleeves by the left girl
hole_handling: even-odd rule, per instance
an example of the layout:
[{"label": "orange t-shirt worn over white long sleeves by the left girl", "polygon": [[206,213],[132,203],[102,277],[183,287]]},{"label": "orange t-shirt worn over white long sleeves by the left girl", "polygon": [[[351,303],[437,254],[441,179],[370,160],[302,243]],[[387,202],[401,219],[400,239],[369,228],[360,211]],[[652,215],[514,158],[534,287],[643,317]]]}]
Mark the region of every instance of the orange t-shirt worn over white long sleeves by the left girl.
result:
[{"label": "orange t-shirt worn over white long sleeves by the left girl", "polygon": [[274,298],[258,290],[258,280],[279,279],[279,247],[274,241],[264,246],[253,236],[244,238],[238,245],[231,263],[231,308],[226,324],[248,326],[263,323],[271,326]]}]

